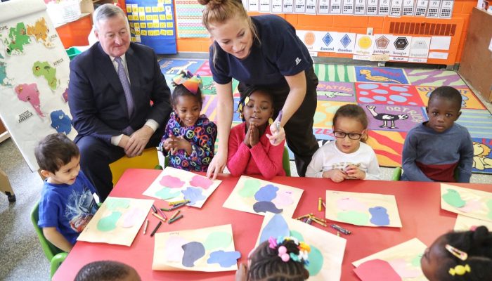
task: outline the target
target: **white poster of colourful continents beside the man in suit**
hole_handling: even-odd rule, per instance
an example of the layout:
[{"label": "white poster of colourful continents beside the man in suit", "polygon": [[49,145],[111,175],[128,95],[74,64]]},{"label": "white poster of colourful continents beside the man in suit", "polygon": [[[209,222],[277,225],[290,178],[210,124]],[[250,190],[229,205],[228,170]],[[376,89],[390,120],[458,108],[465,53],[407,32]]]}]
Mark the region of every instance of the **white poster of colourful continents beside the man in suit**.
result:
[{"label": "white poster of colourful continents beside the man in suit", "polygon": [[44,136],[77,136],[67,103],[70,59],[43,1],[0,6],[0,117],[36,171],[34,148]]}]

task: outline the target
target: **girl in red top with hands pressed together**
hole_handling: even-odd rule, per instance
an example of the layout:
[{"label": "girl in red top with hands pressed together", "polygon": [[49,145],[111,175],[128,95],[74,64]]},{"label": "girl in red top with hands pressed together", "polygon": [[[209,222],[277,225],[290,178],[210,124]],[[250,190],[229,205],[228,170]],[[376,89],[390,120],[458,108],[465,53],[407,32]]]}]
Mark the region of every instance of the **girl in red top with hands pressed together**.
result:
[{"label": "girl in red top with hands pressed together", "polygon": [[233,176],[261,174],[266,179],[285,176],[282,165],[285,140],[280,145],[272,145],[268,139],[271,135],[268,124],[273,123],[271,94],[250,88],[241,98],[238,112],[244,122],[229,133],[228,170]]}]

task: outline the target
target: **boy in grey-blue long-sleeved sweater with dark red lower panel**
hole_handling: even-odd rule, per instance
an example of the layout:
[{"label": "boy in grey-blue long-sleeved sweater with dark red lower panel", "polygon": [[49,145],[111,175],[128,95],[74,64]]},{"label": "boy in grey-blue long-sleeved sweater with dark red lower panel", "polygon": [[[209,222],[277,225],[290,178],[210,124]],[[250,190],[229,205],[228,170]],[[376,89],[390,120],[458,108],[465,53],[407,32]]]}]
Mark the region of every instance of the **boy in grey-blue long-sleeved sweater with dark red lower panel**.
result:
[{"label": "boy in grey-blue long-sleeved sweater with dark red lower panel", "polygon": [[[462,98],[450,86],[434,89],[425,107],[429,121],[411,129],[403,144],[402,181],[470,183],[473,143],[468,130],[455,124]],[[454,177],[455,170],[458,178]]]}]

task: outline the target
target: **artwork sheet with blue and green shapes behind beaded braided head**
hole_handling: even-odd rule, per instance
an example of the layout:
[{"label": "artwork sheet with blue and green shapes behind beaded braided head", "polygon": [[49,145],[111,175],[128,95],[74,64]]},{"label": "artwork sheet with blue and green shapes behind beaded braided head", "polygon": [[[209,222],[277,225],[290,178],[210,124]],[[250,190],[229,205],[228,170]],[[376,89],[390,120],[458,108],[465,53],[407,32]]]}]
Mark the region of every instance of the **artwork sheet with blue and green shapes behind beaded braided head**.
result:
[{"label": "artwork sheet with blue and green shapes behind beaded braided head", "polygon": [[285,216],[285,214],[266,213],[257,245],[269,237],[292,236],[311,247],[309,252],[309,280],[338,281],[342,275],[347,240],[309,224]]}]

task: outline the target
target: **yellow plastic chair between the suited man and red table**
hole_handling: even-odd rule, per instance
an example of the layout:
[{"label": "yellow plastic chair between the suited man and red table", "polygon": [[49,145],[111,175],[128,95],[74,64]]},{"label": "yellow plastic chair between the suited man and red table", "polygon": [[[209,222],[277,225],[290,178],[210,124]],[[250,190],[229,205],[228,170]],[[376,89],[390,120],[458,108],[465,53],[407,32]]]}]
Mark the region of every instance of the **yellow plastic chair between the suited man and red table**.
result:
[{"label": "yellow plastic chair between the suited man and red table", "polygon": [[116,185],[127,169],[154,169],[159,164],[156,148],[143,150],[142,155],[136,157],[121,157],[110,164],[112,185]]}]

